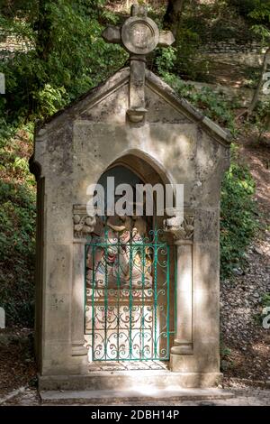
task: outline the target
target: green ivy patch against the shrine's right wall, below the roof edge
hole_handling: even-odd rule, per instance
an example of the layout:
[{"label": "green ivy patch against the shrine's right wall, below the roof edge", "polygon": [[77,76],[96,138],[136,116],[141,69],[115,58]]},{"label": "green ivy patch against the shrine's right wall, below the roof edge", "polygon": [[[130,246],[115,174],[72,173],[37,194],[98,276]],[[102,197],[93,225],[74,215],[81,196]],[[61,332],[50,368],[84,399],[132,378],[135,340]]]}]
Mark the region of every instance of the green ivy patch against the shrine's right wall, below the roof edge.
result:
[{"label": "green ivy patch against the shrine's right wall, below the roof edge", "polygon": [[231,165],[221,187],[220,273],[229,277],[245,263],[244,253],[257,229],[255,183],[233,148]]}]

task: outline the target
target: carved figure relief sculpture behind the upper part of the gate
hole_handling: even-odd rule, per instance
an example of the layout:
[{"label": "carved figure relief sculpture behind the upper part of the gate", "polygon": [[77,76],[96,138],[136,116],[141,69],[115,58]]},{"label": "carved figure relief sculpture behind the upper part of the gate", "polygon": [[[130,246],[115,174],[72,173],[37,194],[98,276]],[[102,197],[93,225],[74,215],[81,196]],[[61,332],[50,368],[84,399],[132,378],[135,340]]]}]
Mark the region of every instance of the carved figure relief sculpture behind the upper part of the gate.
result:
[{"label": "carved figure relief sculpture behind the upper part of the gate", "polygon": [[[100,227],[100,229],[98,229]],[[145,246],[147,222],[143,217],[108,217],[99,219],[88,246],[86,280],[95,287],[150,287],[151,253]]]}]

